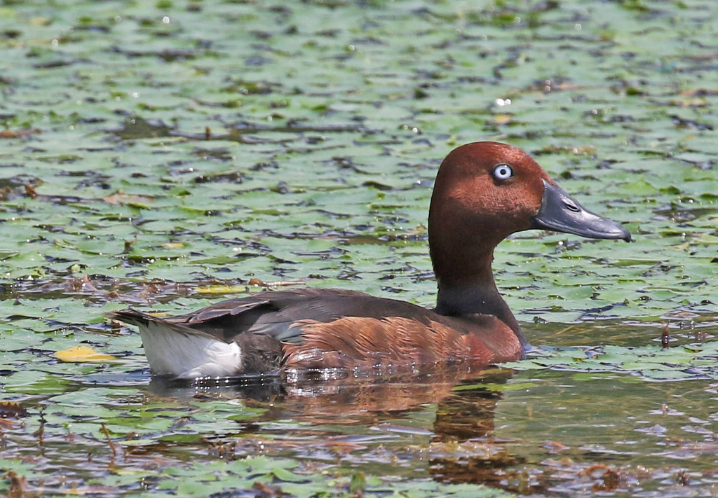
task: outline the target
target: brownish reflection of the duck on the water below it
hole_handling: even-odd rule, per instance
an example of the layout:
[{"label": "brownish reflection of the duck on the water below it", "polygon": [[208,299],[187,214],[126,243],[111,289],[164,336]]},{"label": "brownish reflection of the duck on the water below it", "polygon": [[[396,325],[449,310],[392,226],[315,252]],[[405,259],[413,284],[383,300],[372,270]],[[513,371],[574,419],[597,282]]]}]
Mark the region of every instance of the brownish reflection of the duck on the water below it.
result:
[{"label": "brownish reflection of the duck on the water below it", "polygon": [[182,381],[153,377],[149,387],[162,396],[242,398],[248,406],[266,408],[255,419],[243,421],[252,432],[256,431],[253,423],[286,418],[396,430],[398,426],[383,423],[435,404],[429,443],[429,472],[434,479],[536,491],[536,483],[528,476],[509,469],[521,465],[523,459],[507,451],[507,441],[493,437],[495,410],[503,399],[500,386],[511,375],[513,370],[472,369],[462,364],[413,375],[349,375],[322,370],[289,372],[284,378],[258,375]]}]

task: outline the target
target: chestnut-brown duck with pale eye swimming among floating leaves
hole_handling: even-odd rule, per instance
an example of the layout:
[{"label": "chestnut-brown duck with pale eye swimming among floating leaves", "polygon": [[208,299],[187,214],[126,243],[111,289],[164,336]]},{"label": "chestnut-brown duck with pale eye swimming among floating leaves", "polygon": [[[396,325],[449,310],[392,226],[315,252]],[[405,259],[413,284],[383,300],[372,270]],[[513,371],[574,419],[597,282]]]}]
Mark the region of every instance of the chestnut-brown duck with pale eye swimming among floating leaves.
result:
[{"label": "chestnut-brown duck with pale eye swimming among floating leaves", "polygon": [[632,240],[587,210],[525,151],[465,144],[439,166],[429,205],[437,305],[334,288],[261,291],[177,316],[139,309],[111,320],[139,327],[154,375],[231,377],[313,369],[376,369],[518,360],[529,347],[493,277],[496,246],[541,229]]}]

